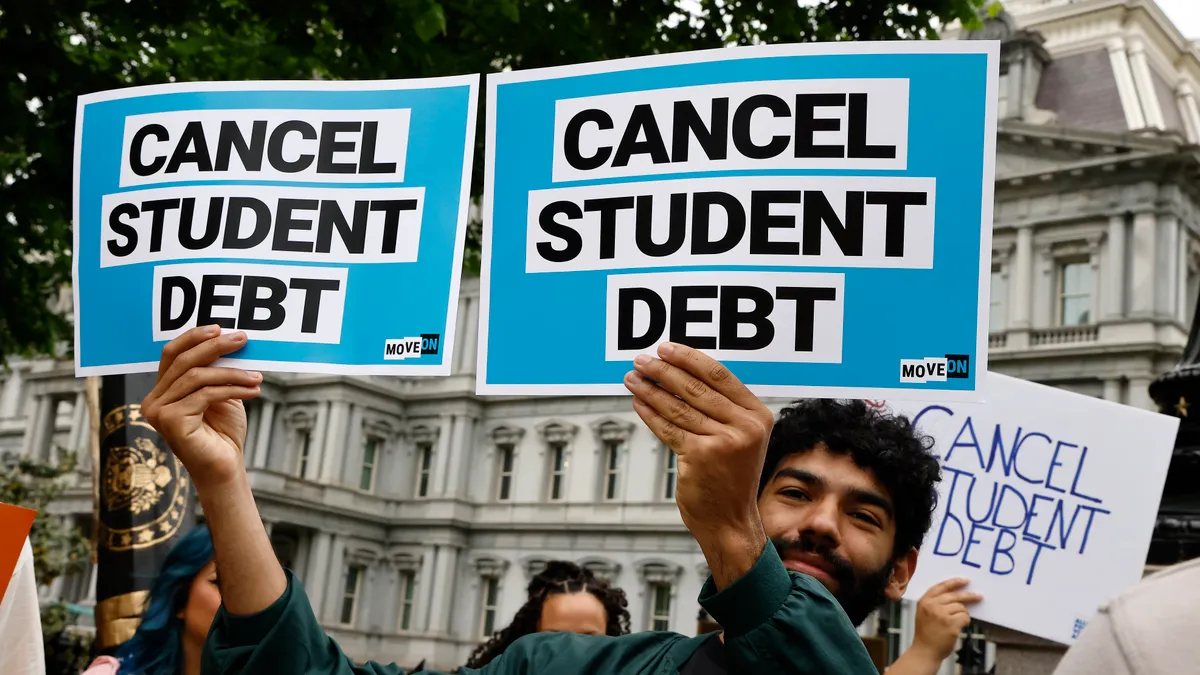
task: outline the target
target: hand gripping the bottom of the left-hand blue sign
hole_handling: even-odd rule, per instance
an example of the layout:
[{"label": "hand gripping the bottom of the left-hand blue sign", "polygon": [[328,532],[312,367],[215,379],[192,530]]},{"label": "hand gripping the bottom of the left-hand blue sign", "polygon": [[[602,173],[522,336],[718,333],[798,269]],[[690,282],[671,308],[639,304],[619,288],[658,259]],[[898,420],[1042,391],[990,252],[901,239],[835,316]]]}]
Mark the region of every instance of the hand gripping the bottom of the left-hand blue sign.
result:
[{"label": "hand gripping the bottom of the left-hand blue sign", "polygon": [[142,414],[187,468],[197,490],[235,480],[245,472],[246,408],[263,376],[212,362],[246,346],[245,333],[221,334],[202,325],[162,350],[158,382],[142,401]]}]

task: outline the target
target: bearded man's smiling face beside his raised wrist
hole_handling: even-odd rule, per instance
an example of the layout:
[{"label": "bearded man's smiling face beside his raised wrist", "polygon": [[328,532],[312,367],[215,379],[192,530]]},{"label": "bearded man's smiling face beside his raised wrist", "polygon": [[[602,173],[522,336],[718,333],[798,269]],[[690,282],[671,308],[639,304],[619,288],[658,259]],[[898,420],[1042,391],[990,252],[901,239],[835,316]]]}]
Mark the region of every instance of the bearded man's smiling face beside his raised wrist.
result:
[{"label": "bearded man's smiling face beside his raised wrist", "polygon": [[892,496],[851,455],[817,444],[781,458],[758,513],[784,566],[821,581],[856,626],[904,596],[917,551],[894,555]]}]

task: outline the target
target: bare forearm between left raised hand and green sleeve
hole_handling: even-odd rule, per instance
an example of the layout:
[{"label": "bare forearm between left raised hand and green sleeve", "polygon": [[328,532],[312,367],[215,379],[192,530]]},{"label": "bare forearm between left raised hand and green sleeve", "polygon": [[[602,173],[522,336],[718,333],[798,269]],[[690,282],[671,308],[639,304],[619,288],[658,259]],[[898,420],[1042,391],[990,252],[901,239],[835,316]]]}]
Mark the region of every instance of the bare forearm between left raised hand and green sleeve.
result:
[{"label": "bare forearm between left raised hand and green sleeve", "polygon": [[226,610],[247,615],[266,609],[287,590],[287,577],[258,516],[246,474],[221,485],[197,486],[197,491],[212,533]]}]

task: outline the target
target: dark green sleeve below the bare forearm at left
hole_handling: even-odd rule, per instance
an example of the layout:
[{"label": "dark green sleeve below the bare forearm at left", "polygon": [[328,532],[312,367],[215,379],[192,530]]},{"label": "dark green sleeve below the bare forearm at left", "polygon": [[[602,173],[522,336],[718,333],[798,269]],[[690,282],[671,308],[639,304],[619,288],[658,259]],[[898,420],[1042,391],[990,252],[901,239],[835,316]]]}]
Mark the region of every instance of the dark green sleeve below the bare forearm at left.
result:
[{"label": "dark green sleeve below the bare forearm at left", "polygon": [[280,599],[258,614],[217,610],[200,675],[404,675],[395,664],[350,661],[317,622],[300,581],[290,572],[287,578]]}]

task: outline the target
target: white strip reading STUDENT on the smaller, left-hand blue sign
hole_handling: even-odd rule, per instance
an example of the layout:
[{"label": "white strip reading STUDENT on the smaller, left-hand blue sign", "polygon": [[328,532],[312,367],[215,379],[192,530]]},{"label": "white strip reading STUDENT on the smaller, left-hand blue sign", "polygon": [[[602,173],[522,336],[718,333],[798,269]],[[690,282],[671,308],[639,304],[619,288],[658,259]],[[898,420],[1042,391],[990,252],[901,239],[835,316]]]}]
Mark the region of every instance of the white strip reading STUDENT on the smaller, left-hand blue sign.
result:
[{"label": "white strip reading STUDENT on the smaller, left-hand blue sign", "polygon": [[205,185],[106,195],[100,265],[184,258],[416,259],[424,189]]}]

